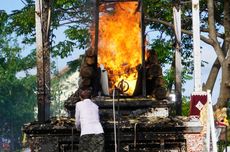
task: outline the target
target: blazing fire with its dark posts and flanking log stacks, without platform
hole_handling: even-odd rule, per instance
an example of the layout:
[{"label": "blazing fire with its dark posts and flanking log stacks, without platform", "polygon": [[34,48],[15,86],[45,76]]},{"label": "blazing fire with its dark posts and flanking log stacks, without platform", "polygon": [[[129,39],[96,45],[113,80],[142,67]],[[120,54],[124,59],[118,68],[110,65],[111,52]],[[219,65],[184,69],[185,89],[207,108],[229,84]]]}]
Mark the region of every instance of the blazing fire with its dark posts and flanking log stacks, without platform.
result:
[{"label": "blazing fire with its dark posts and flanking log stacks, without platform", "polygon": [[[102,1],[97,5],[90,29],[91,47],[80,70],[80,88],[92,87],[95,96],[99,92],[112,95],[114,89],[120,89],[127,96],[166,97],[157,92],[164,90],[163,75],[156,52],[145,49],[141,8],[141,1]],[[100,81],[104,71],[108,76]]]}]

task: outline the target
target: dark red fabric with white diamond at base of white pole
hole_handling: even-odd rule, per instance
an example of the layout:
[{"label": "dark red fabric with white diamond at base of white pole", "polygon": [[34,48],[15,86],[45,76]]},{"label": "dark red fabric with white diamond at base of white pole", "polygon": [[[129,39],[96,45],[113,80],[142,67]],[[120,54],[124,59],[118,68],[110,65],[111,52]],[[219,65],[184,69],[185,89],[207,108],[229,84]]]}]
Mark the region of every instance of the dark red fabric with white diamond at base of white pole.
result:
[{"label": "dark red fabric with white diamond at base of white pole", "polygon": [[190,116],[200,117],[200,110],[207,103],[207,94],[193,94],[190,101]]}]

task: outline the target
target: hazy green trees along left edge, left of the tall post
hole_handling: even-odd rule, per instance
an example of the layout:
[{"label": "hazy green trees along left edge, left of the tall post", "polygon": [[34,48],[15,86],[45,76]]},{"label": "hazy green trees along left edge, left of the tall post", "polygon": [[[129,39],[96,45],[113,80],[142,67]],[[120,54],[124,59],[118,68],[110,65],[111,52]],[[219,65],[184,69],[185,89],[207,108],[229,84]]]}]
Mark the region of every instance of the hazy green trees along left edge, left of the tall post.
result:
[{"label": "hazy green trees along left edge, left of the tall post", "polygon": [[[9,30],[9,17],[0,13],[0,136],[20,146],[21,127],[34,119],[36,77],[17,77],[35,66],[34,53],[22,57],[21,48]],[[12,151],[15,149],[11,149]]]}]

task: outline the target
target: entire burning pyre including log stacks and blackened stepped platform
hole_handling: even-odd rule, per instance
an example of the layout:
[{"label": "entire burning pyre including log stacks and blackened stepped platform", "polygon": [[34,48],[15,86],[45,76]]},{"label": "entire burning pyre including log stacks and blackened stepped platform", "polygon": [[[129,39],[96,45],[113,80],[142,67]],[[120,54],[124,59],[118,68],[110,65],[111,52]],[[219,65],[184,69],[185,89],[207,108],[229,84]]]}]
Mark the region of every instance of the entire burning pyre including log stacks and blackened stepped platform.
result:
[{"label": "entire burning pyre including log stacks and blackened stepped platform", "polygon": [[[145,49],[142,1],[96,0],[95,6],[92,44],[81,65],[79,89],[93,89],[105,131],[105,151],[114,151],[116,144],[118,151],[186,151],[190,141],[202,141],[197,122],[170,116],[157,54]],[[79,132],[72,120],[79,100],[76,91],[66,101],[69,118],[24,127],[32,151],[77,151]],[[199,144],[193,146],[198,149]]]}]

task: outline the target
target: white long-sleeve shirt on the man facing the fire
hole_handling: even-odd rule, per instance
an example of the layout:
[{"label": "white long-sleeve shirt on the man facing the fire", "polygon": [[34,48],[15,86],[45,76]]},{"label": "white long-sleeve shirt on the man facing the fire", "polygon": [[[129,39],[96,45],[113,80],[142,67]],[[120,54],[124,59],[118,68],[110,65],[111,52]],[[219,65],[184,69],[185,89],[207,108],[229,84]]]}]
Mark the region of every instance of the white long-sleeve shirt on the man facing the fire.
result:
[{"label": "white long-sleeve shirt on the man facing the fire", "polygon": [[75,120],[76,127],[81,126],[81,136],[104,133],[99,119],[98,106],[90,99],[85,99],[76,104]]}]

